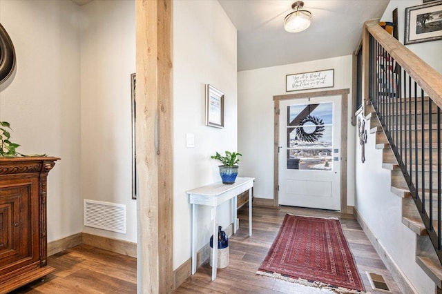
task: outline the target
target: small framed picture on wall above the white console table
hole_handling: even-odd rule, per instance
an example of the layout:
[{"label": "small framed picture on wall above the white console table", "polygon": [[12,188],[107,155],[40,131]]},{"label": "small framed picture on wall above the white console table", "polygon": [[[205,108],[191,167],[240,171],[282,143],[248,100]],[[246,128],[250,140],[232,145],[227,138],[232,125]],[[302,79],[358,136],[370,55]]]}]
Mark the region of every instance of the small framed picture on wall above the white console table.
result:
[{"label": "small framed picture on wall above the white console table", "polygon": [[224,93],[206,84],[206,126],[224,128]]}]

